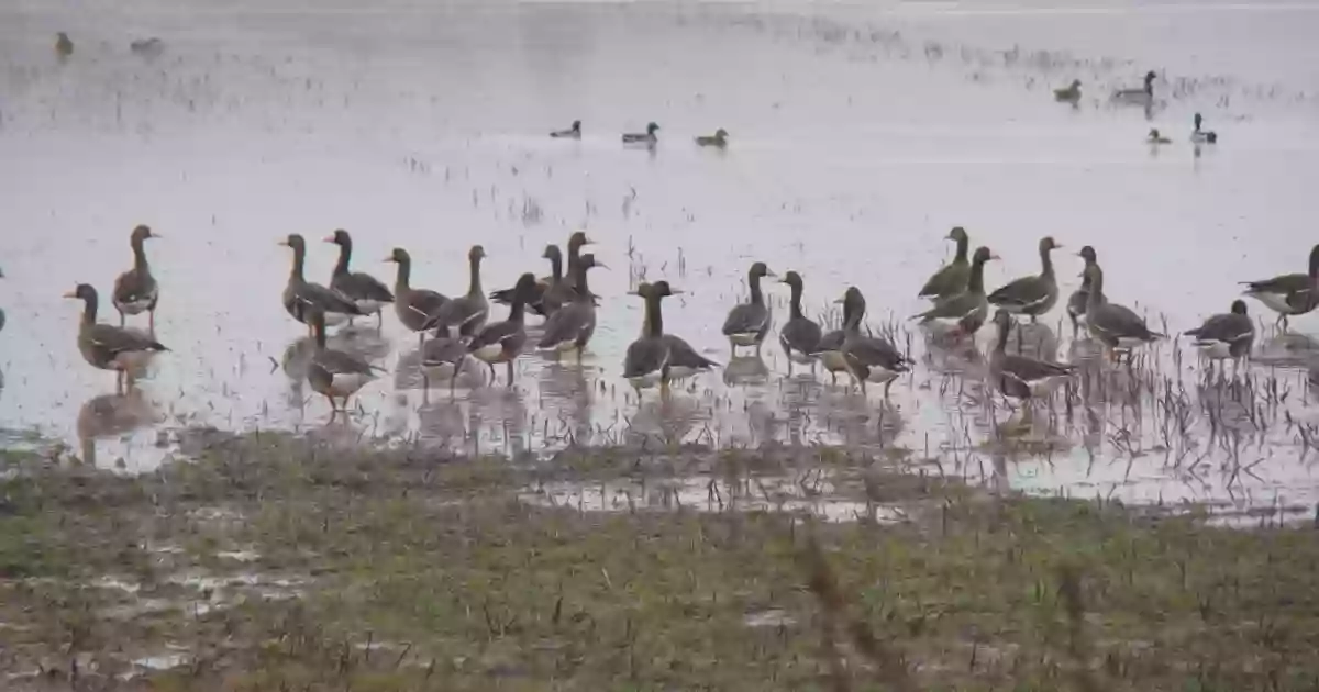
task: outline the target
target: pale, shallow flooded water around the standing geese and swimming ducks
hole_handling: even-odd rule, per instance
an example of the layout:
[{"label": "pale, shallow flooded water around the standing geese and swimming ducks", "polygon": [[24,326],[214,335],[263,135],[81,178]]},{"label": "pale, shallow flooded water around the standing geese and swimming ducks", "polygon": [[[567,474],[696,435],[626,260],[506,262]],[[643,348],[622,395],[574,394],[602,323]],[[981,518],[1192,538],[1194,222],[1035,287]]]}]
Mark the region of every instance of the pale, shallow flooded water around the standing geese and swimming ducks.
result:
[{"label": "pale, shallow flooded water around the standing geese and swimming ducks", "polygon": [[[1285,402],[1206,398],[1194,359],[1178,369],[1165,344],[1137,395],[1112,395],[1124,376],[1107,374],[1088,413],[1059,403],[1005,436],[1010,414],[985,403],[976,359],[926,349],[919,333],[921,365],[888,405],[785,378],[777,345],[762,362],[731,361],[719,333],[753,260],[801,272],[813,314],[855,283],[873,324],[905,318],[958,224],[1004,257],[991,287],[1038,270],[1049,233],[1068,248],[1057,261],[1070,291],[1070,252],[1095,245],[1109,297],[1171,332],[1225,310],[1236,281],[1303,270],[1319,173],[1312,7],[372,8],[0,9],[0,427],[12,444],[63,439],[98,465],[142,471],[179,452],[178,428],[324,426],[328,406],[299,377],[305,328],[278,302],[290,253],[276,243],[289,232],[309,240],[310,279],[328,279],[335,248],[318,239],[342,227],[356,269],[392,283],[380,260],[405,246],[414,285],[454,294],[468,245],[491,256],[489,290],[543,273],[543,245],[586,228],[613,269],[591,277],[604,299],[582,368],[533,355],[512,390],[423,397],[415,339],[386,315],[380,335],[359,324],[335,337],[389,372],[342,435],[479,451],[909,447],[947,473],[1030,492],[1319,500],[1299,432],[1319,415],[1297,370],[1252,370],[1277,378]],[[66,65],[50,49],[57,30],[78,45]],[[165,41],[161,55],[128,51],[146,36]],[[1146,113],[1101,103],[1148,67],[1162,74],[1153,125],[1174,140],[1157,152],[1142,142]],[[1072,76],[1087,90],[1076,109],[1050,92]],[[1196,111],[1223,136],[1199,153],[1186,141]],[[543,136],[574,119],[580,142]],[[619,145],[617,132],[648,120],[663,128],[657,150]],[[727,153],[691,144],[719,127],[732,133]],[[173,351],[124,398],[79,357],[78,306],[59,297],[91,282],[102,319],[116,319],[108,290],[137,223],[165,236],[148,252],[164,290],[157,335]],[[729,368],[673,402],[638,403],[617,378],[641,319],[625,291],[661,277],[689,291],[667,304],[666,327]],[[786,291],[770,293],[781,322]],[[1314,319],[1293,324],[1312,331]],[[1058,308],[1046,322],[1066,360],[1076,351],[1062,320]],[[1170,384],[1191,413],[1159,403]],[[1224,407],[1249,434],[1220,424]],[[1174,418],[1181,442],[1169,444]],[[1221,430],[1233,442],[1220,444]]]}]

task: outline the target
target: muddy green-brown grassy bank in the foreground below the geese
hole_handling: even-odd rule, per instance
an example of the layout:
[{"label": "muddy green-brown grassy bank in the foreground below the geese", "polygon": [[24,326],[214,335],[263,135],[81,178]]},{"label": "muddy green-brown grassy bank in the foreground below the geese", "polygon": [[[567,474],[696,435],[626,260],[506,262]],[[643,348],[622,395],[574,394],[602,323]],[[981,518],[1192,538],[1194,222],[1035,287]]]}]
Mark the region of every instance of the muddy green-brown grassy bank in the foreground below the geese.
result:
[{"label": "muddy green-brown grassy bank in the foreground below the geese", "polygon": [[[989,498],[831,449],[509,463],[262,435],[140,478],[7,464],[7,689],[1319,685],[1307,527]],[[708,496],[657,500],[677,477]],[[537,490],[620,478],[645,488],[604,490],[621,511]],[[901,518],[757,509],[802,497]]]}]

